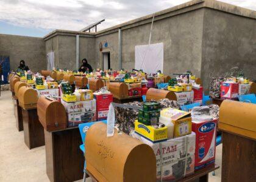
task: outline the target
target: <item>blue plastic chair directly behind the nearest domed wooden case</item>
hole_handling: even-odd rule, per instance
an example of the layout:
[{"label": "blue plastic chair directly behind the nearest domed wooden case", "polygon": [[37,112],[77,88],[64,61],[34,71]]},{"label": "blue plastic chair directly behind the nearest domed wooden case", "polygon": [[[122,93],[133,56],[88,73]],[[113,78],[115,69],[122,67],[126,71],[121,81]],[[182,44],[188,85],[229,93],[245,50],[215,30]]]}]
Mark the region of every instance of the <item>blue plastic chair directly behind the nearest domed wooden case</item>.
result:
[{"label": "blue plastic chair directly behind the nearest domed wooden case", "polygon": [[[83,144],[81,144],[79,147],[80,147],[80,150],[82,150],[83,153],[85,153],[85,137],[86,137],[86,133],[87,133],[88,129],[93,124],[99,123],[99,122],[107,124],[107,120],[79,124],[78,127],[79,127],[80,135],[81,135],[82,141],[83,141]],[[85,182],[85,179],[86,179],[86,161],[85,161],[85,164],[84,164],[84,178],[83,178],[83,182]]]}]

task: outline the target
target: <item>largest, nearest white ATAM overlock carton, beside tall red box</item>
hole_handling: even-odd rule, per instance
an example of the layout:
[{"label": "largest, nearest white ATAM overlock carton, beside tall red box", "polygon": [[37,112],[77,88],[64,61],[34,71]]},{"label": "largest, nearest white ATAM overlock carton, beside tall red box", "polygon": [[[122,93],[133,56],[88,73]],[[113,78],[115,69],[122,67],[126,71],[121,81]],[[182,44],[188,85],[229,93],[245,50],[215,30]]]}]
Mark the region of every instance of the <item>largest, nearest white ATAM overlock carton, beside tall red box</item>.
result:
[{"label": "largest, nearest white ATAM overlock carton, beside tall red box", "polygon": [[[161,181],[161,176],[162,181],[177,181],[194,173],[194,151],[196,143],[194,132],[190,135],[172,138],[159,143],[152,143],[137,135],[137,133],[132,133],[132,136],[148,144],[154,150],[157,159],[157,181]],[[185,158],[186,156],[187,159]],[[185,160],[187,160],[187,166],[185,166]]]}]

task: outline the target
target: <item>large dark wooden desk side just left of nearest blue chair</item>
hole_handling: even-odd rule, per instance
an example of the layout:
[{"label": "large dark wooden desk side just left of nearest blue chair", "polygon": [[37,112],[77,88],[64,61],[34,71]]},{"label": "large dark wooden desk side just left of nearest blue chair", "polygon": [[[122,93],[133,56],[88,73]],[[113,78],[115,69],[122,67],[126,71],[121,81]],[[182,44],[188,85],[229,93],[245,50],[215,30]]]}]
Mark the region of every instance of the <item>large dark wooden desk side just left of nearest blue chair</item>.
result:
[{"label": "large dark wooden desk side just left of nearest blue chair", "polygon": [[82,139],[78,128],[47,132],[44,130],[46,174],[50,181],[77,181],[84,176]]}]

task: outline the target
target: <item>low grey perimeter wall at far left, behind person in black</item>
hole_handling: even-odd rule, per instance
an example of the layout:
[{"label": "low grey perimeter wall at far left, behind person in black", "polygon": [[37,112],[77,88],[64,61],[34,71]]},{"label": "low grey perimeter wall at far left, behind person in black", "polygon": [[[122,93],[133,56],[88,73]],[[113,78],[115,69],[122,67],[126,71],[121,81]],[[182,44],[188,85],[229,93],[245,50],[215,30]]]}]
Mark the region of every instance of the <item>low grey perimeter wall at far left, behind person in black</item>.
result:
[{"label": "low grey perimeter wall at far left, behind person in black", "polygon": [[0,34],[0,55],[10,56],[10,69],[16,70],[24,59],[29,69],[46,69],[46,55],[43,38]]}]

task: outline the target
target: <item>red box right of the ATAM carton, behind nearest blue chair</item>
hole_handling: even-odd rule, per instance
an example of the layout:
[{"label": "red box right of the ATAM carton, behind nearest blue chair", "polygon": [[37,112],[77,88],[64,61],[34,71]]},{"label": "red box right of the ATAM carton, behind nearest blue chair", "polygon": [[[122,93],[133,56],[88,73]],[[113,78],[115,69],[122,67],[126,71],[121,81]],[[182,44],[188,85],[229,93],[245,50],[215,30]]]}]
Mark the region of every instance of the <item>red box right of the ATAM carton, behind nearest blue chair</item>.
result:
[{"label": "red box right of the ATAM carton, behind nearest blue chair", "polygon": [[105,93],[102,95],[94,94],[96,99],[96,108],[97,108],[97,120],[106,120],[108,115],[109,104],[113,102],[113,94]]}]

